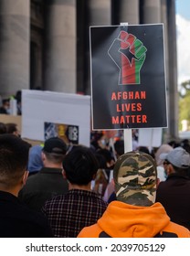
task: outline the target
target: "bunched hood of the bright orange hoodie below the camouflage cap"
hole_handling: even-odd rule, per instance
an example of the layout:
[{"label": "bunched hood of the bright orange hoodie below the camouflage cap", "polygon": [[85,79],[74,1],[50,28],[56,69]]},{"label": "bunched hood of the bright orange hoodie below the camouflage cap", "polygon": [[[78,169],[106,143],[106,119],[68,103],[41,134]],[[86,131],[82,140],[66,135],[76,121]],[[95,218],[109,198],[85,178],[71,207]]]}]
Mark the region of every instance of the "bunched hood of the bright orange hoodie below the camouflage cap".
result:
[{"label": "bunched hood of the bright orange hoodie below the camouflage cap", "polygon": [[150,207],[137,207],[112,201],[98,220],[98,226],[114,238],[150,238],[157,235],[169,222],[170,219],[160,203]]}]

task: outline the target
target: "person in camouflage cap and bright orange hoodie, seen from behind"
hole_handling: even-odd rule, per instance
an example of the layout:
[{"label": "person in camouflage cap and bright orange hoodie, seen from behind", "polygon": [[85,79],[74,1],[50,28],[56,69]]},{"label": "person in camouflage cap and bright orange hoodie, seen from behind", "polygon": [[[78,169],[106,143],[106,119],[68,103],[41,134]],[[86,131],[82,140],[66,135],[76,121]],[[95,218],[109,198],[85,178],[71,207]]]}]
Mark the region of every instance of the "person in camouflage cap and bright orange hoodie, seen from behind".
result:
[{"label": "person in camouflage cap and bright orange hoodie, seen from behind", "polygon": [[163,205],[155,203],[157,173],[151,155],[136,151],[121,155],[113,178],[117,200],[78,238],[190,237],[188,229],[170,221]]}]

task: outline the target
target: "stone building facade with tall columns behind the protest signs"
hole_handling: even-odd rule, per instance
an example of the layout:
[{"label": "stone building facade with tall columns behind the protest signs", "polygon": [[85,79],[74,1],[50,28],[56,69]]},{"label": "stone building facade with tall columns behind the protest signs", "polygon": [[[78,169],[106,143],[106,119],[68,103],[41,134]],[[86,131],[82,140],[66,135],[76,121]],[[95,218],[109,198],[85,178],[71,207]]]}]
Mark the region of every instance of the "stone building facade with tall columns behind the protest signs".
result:
[{"label": "stone building facade with tall columns behind the protest signs", "polygon": [[178,134],[174,0],[1,0],[0,95],[90,94],[90,26],[164,23],[168,129]]}]

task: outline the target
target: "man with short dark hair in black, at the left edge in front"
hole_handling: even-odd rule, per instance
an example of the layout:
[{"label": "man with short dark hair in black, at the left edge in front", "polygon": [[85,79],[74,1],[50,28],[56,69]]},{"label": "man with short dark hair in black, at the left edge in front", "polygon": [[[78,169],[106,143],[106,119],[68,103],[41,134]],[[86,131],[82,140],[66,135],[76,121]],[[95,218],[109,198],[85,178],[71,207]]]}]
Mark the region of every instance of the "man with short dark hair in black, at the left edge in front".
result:
[{"label": "man with short dark hair in black, at the left edge in front", "polygon": [[30,144],[13,134],[0,135],[0,237],[53,237],[47,219],[17,198],[26,184]]}]

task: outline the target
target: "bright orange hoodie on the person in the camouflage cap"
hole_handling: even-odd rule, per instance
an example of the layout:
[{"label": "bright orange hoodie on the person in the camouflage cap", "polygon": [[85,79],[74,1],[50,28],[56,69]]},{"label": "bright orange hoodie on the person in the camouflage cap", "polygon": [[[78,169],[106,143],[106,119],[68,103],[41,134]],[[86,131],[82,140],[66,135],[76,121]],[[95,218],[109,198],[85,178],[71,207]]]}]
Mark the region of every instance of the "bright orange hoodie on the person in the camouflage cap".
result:
[{"label": "bright orange hoodie on the person in the camouflage cap", "polygon": [[190,231],[170,221],[164,207],[137,207],[112,201],[98,222],[79,232],[78,238],[190,238]]}]

